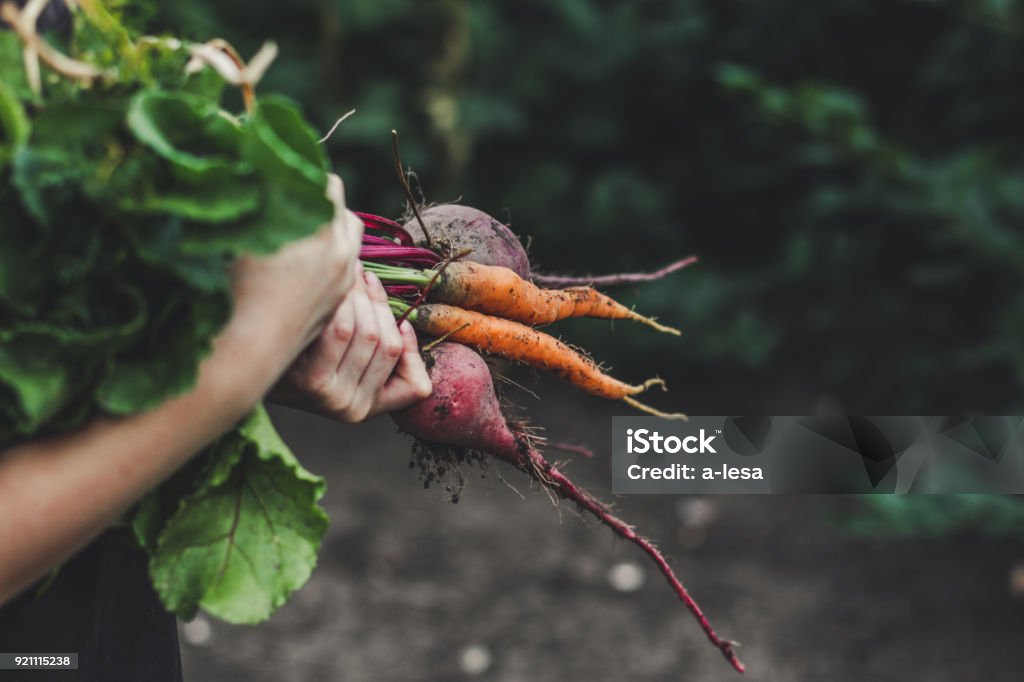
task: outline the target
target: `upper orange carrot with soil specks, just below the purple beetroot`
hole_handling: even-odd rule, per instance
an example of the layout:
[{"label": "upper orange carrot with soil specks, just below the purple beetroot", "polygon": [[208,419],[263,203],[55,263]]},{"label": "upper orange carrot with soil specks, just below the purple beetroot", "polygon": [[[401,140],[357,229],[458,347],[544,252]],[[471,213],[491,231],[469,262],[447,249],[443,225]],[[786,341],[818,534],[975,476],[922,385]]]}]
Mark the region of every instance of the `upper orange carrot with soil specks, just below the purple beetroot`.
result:
[{"label": "upper orange carrot with soil specks, just below the purple beetroot", "polygon": [[524,325],[546,325],[566,317],[632,319],[679,336],[679,330],[659,325],[590,287],[541,289],[500,265],[450,263],[431,295],[444,303]]}]

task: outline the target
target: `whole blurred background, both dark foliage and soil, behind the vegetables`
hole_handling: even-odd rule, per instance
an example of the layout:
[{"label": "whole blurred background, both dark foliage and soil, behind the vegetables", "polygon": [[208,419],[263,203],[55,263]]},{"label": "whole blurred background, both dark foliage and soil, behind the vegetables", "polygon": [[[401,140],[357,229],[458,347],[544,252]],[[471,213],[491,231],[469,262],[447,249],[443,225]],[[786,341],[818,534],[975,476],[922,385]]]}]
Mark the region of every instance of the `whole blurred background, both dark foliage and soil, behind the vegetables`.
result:
[{"label": "whole blurred background, both dark foliage and soil, behind the vegetables", "polygon": [[[425,200],[461,198],[508,220],[541,271],[698,255],[621,292],[682,339],[595,322],[560,329],[624,379],[668,379],[670,393],[651,398],[659,407],[1020,414],[1022,9],[185,0],[132,11],[246,55],[278,41],[261,88],[290,93],[325,131],[356,109],[328,144],[357,210],[403,209],[397,128]],[[543,401],[513,397],[550,434],[597,451],[570,470],[602,493],[608,417],[622,408],[525,381]],[[462,679],[474,644],[490,653],[488,680],[730,675],[633,548],[569,510],[559,524],[514,472],[525,501],[492,472],[451,506],[417,489],[388,422],[278,417],[332,484],[323,564],[269,624],[213,624],[213,646],[186,644],[193,680]],[[752,679],[1019,679],[1018,505],[618,505],[744,643]],[[916,537],[892,538],[907,532]],[[646,572],[637,592],[606,580],[624,561]],[[204,639],[203,627],[189,632]]]}]

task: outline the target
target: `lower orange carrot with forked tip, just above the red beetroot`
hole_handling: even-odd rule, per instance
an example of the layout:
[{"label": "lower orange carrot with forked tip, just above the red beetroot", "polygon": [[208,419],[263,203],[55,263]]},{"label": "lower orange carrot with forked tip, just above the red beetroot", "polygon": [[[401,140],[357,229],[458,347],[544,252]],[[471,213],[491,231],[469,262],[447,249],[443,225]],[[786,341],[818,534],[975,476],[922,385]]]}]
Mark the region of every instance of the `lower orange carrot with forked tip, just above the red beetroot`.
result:
[{"label": "lower orange carrot with forked tip, just above the red beetroot", "polygon": [[[394,301],[392,309],[400,314],[409,311],[409,306]],[[686,415],[663,413],[632,397],[651,386],[664,388],[665,382],[662,379],[648,379],[637,385],[627,384],[604,374],[594,360],[569,348],[565,343],[520,323],[444,303],[421,305],[409,311],[408,318],[424,334],[444,337],[477,350],[551,372],[592,395],[623,400],[637,410],[658,417],[686,419]]]}]

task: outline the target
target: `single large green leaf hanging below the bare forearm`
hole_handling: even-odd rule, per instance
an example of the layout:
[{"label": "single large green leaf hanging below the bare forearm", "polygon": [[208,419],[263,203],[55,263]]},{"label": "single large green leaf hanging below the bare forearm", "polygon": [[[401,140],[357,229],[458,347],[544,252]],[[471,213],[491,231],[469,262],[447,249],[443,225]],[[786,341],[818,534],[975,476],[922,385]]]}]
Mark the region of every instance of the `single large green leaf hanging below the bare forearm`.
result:
[{"label": "single large green leaf hanging below the bare forearm", "polygon": [[164,604],[258,623],[308,580],[327,530],[324,480],[303,469],[259,408],[213,446],[150,563]]}]

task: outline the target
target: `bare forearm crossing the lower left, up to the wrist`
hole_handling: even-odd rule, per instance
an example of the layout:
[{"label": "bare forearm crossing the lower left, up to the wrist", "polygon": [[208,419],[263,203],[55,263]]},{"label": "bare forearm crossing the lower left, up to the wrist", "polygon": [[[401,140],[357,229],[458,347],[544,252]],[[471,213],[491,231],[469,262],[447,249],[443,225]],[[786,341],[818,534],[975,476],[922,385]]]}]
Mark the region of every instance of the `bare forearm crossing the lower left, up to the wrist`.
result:
[{"label": "bare forearm crossing the lower left, up to the wrist", "polygon": [[[0,453],[0,603],[70,558],[258,402],[290,357],[236,323],[196,388]],[[261,347],[262,346],[262,347]]]}]

